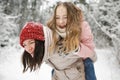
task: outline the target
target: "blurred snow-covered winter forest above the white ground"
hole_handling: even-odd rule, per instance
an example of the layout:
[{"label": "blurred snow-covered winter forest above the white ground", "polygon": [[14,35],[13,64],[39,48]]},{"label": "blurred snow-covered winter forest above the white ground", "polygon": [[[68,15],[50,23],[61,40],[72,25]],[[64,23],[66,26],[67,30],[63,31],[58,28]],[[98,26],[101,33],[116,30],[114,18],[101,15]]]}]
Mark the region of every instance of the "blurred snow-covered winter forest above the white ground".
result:
[{"label": "blurred snow-covered winter forest above the white ground", "polygon": [[[0,0],[0,55],[8,46],[20,48],[18,36],[26,22],[46,25],[57,1],[60,0]],[[120,64],[120,0],[71,2],[84,12],[94,34],[96,48],[113,49],[112,53]]]}]

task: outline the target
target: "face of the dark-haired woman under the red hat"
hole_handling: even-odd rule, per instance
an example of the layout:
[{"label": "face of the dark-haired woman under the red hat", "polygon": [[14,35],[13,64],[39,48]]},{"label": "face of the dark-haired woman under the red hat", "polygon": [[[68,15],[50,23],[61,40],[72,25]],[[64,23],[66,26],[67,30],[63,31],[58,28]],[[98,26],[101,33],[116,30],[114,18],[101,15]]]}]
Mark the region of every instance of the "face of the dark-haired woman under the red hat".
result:
[{"label": "face of the dark-haired woman under the red hat", "polygon": [[33,57],[35,50],[35,40],[27,39],[23,42],[24,49]]}]

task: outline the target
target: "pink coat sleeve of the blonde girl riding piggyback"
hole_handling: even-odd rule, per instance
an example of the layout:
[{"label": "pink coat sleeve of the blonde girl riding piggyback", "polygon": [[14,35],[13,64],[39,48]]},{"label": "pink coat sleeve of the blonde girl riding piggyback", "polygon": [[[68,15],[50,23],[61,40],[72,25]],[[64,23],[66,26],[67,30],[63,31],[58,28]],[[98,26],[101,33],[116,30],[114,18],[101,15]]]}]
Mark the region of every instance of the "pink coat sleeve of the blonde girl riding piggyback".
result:
[{"label": "pink coat sleeve of the blonde girl riding piggyback", "polygon": [[80,51],[78,55],[84,59],[96,58],[96,53],[94,51],[95,44],[93,42],[93,34],[91,32],[90,26],[88,22],[84,21],[82,23],[82,33],[81,33],[81,41],[80,41]]}]

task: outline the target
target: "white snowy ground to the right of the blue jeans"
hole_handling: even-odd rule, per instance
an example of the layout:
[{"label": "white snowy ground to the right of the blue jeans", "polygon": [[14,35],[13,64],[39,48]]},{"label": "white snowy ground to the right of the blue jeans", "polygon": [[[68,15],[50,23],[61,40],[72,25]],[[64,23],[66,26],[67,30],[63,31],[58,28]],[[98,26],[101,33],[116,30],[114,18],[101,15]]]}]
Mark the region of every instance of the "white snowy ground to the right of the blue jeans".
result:
[{"label": "white snowy ground to the right of the blue jeans", "polygon": [[97,49],[95,71],[98,80],[120,80],[120,68],[111,49]]}]

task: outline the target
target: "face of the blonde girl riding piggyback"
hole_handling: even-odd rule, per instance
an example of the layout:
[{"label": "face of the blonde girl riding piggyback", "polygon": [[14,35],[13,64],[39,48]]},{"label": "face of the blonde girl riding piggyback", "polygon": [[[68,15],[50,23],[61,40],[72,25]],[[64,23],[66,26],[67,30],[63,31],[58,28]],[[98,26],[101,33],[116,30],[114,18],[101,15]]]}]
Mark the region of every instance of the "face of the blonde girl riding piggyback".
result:
[{"label": "face of the blonde girl riding piggyback", "polygon": [[63,6],[60,5],[56,9],[56,25],[59,28],[65,28],[67,24],[67,9]]}]

